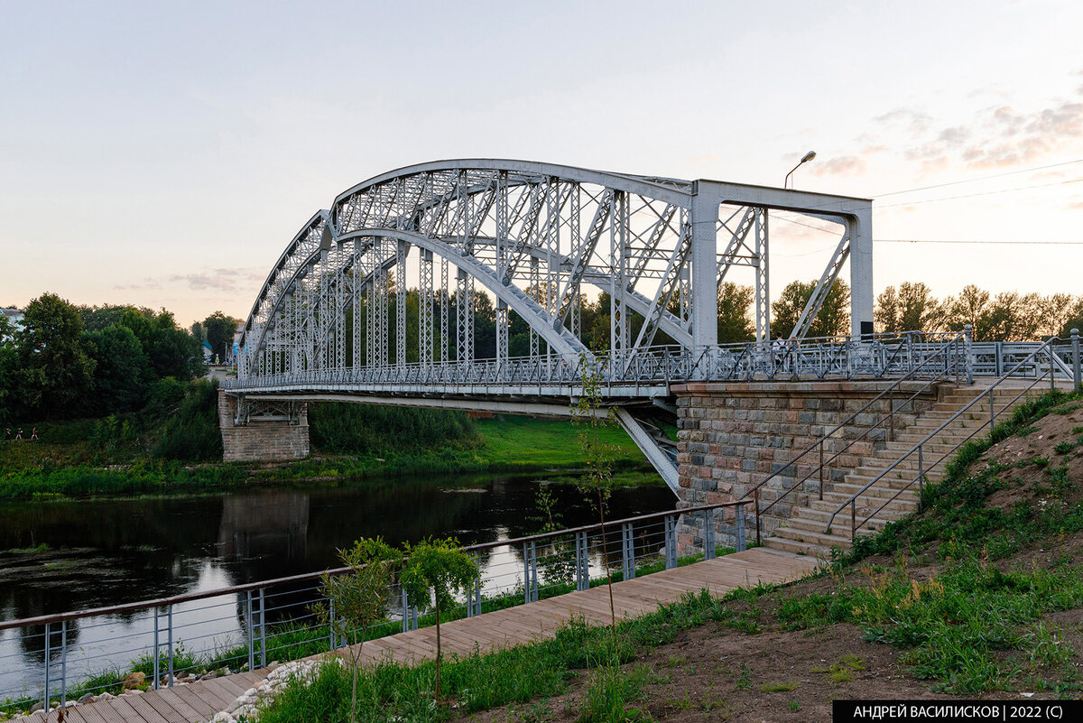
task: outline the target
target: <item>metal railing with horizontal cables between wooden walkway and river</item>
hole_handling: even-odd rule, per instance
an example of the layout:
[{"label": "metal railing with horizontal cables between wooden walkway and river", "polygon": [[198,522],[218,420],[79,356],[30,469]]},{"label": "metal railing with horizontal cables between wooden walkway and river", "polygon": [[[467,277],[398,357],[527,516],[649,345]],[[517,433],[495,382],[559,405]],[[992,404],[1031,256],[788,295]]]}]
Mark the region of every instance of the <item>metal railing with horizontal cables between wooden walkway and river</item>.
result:
[{"label": "metal railing with horizontal cables between wooden walkway and river", "polygon": [[[451,617],[585,590],[606,574],[630,579],[694,560],[678,553],[712,558],[719,552],[716,529],[743,550],[746,504],[671,510],[466,547],[482,568],[482,582],[460,596]],[[681,516],[682,529],[691,520],[702,534],[678,539]],[[63,706],[86,694],[115,692],[120,675],[133,668],[158,688],[207,668],[253,670],[340,647],[344,642],[311,609],[329,602],[323,596],[324,574],[0,622],[0,643],[9,643],[0,645],[0,713],[25,711],[39,700]],[[430,601],[408,600],[399,588],[389,594],[391,616],[369,628],[366,640],[431,622]]]}]

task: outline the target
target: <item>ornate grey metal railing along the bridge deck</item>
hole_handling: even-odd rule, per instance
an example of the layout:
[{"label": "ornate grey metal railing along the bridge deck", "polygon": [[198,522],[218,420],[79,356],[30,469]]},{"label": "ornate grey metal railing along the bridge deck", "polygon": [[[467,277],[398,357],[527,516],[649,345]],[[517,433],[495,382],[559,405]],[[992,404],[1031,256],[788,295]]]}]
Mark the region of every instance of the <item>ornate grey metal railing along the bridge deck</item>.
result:
[{"label": "ornate grey metal railing along the bridge deck", "polygon": [[[678,345],[626,351],[604,351],[583,355],[546,354],[508,359],[391,364],[375,367],[311,368],[287,373],[251,373],[226,380],[225,389],[303,389],[306,385],[360,386],[373,389],[423,387],[552,387],[579,386],[583,365],[589,363],[600,382],[608,386],[661,386],[687,381],[753,381],[834,378],[896,378],[915,373],[942,374],[948,370],[982,372],[996,367],[996,359],[1016,352],[1008,346],[1000,353],[975,345],[960,347],[954,356],[943,356],[945,341],[955,333],[908,331],[870,334],[861,339],[825,337],[800,342],[775,340],[721,344],[708,347]],[[977,350],[975,355],[974,351]],[[927,364],[941,358],[939,370]],[[975,367],[974,358],[980,364]]]}]

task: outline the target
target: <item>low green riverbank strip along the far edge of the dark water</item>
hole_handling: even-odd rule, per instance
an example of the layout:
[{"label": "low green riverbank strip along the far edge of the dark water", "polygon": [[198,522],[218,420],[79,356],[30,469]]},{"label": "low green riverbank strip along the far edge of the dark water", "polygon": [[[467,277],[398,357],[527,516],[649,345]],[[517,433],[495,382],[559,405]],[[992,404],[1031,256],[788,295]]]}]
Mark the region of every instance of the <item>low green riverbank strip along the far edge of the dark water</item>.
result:
[{"label": "low green riverbank strip along the far edge of the dark water", "polygon": [[[578,429],[569,421],[505,417],[474,420],[469,442],[431,449],[393,447],[365,455],[318,450],[296,462],[185,464],[155,459],[132,445],[103,448],[94,430],[101,420],[42,425],[41,439],[0,443],[0,499],[97,495],[168,494],[230,489],[265,484],[389,477],[405,474],[483,472],[565,472],[586,463]],[[618,428],[604,430],[618,484],[655,485],[653,472],[635,443]]]}]

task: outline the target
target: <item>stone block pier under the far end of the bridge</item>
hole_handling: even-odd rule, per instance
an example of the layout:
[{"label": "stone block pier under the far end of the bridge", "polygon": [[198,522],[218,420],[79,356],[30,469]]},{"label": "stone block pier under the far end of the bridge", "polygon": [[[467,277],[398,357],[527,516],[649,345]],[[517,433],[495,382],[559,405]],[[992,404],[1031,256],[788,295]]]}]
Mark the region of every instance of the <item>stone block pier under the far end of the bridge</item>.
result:
[{"label": "stone block pier under the far end of the bridge", "polygon": [[236,424],[237,397],[218,393],[218,423],[222,429],[225,462],[277,462],[309,456],[309,410],[300,406],[297,419],[252,420]]}]

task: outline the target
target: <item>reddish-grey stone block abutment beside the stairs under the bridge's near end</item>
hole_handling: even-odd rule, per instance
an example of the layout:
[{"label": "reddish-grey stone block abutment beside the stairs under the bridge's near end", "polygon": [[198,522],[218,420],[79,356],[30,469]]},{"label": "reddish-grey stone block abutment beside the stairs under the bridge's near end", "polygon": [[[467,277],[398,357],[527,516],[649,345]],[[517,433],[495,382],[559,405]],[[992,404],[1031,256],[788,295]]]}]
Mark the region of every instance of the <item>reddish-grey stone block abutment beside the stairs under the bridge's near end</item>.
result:
[{"label": "reddish-grey stone block abutment beside the stairs under the bridge's near end", "polygon": [[[793,505],[807,502],[808,495],[818,494],[820,488],[819,450],[806,455],[790,469],[784,469],[786,463],[890,384],[831,381],[675,385],[680,477],[677,507],[740,499],[772,472],[782,470],[760,489],[761,503],[771,502],[796,484],[803,483],[803,488],[762,516],[760,525],[767,534],[778,526],[780,517],[790,516]],[[825,464],[825,489],[832,483],[841,482],[849,470],[861,463],[863,456],[883,446],[891,434],[892,424],[895,430],[904,429],[936,403],[943,390],[938,385],[926,386],[924,382],[901,384],[824,442],[825,461],[843,452],[834,462]],[[890,423],[882,422],[892,408],[895,413],[890,416]],[[877,422],[882,422],[880,425],[870,431]],[[752,539],[756,521],[753,508],[745,509]],[[732,544],[733,513],[728,512],[725,521],[716,520],[715,524],[718,542]],[[702,531],[702,520],[682,517],[678,526],[678,545],[682,549],[699,547]]]}]

